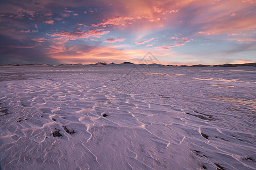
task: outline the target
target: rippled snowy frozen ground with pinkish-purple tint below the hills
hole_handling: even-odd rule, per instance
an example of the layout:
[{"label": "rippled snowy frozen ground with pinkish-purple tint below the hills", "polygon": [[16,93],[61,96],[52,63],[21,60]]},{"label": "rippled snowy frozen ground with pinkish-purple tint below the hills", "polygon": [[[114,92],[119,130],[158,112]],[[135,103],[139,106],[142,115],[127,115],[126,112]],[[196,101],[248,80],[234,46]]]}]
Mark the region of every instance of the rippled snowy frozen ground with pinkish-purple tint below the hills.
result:
[{"label": "rippled snowy frozen ground with pinkish-purple tint below the hills", "polygon": [[255,67],[1,66],[0,76],[2,169],[256,169]]}]

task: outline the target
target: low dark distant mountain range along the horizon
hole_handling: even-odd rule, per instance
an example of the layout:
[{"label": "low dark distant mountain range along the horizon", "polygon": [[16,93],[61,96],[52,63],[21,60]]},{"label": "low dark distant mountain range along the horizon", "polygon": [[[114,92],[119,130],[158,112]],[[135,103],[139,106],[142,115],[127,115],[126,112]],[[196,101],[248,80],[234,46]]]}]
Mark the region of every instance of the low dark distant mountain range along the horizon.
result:
[{"label": "low dark distant mountain range along the horizon", "polygon": [[[28,64],[6,64],[6,65],[0,65],[0,66],[104,66],[104,65],[147,65],[147,64],[134,64],[131,62],[123,62],[123,63],[105,63],[105,62],[97,62],[95,64],[89,64],[89,65],[82,65],[81,63],[77,64],[60,64],[60,65],[49,65],[49,64],[44,64],[44,63],[28,63]],[[230,63],[225,63],[223,65],[192,65],[192,66],[187,66],[187,65],[160,65],[157,63],[152,63],[148,64],[148,66],[171,66],[171,67],[238,67],[238,66],[247,66],[247,67],[256,67],[256,62],[253,63],[244,63],[244,64],[230,64]]]}]

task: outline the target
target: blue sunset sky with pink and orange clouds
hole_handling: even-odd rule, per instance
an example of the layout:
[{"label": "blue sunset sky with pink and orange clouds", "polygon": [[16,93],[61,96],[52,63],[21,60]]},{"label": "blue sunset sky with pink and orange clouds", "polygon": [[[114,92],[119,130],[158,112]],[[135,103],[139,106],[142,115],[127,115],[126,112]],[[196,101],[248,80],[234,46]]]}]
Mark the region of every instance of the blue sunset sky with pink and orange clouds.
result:
[{"label": "blue sunset sky with pink and orange clouds", "polygon": [[255,20],[256,0],[0,0],[0,64],[256,62]]}]

